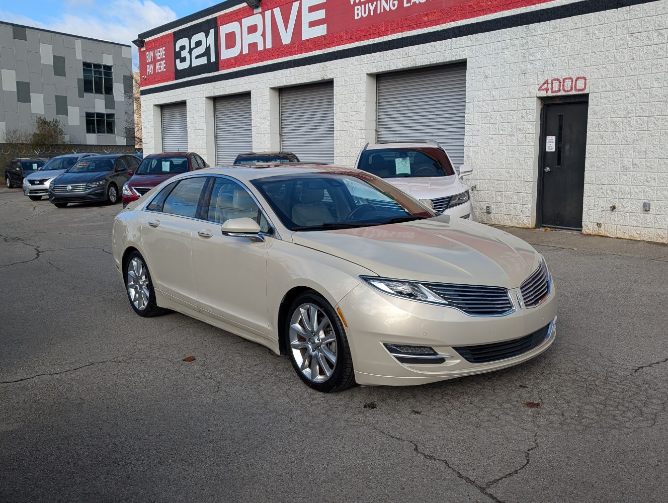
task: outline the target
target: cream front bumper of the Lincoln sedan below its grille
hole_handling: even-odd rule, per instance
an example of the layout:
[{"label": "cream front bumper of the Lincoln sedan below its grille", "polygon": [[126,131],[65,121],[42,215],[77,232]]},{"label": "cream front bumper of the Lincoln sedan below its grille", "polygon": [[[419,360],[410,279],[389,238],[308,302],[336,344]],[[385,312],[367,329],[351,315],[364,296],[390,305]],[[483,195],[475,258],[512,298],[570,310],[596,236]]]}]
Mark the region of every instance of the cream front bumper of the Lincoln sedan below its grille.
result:
[{"label": "cream front bumper of the Lincoln sedan below its grille", "polygon": [[[545,351],[556,336],[554,285],[540,305],[524,309],[515,305],[506,316],[472,317],[449,307],[391,297],[366,283],[355,287],[337,307],[348,325],[355,380],[365,385],[425,384],[511,367]],[[510,341],[540,329],[546,329],[546,335],[536,347],[488,363],[470,363],[456,349]],[[401,363],[385,344],[429,346],[448,357],[443,363]]]}]

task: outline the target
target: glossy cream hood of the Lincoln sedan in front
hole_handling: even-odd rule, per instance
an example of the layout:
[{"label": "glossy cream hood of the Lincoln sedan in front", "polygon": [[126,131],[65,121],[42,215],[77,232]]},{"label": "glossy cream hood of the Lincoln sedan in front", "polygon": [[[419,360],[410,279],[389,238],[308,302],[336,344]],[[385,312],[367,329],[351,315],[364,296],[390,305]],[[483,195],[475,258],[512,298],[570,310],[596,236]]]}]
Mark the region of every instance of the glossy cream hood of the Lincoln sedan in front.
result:
[{"label": "glossy cream hood of the Lincoln sedan in front", "polygon": [[519,287],[540,255],[520,238],[447,214],[402,224],[295,232],[293,242],[381,277]]}]

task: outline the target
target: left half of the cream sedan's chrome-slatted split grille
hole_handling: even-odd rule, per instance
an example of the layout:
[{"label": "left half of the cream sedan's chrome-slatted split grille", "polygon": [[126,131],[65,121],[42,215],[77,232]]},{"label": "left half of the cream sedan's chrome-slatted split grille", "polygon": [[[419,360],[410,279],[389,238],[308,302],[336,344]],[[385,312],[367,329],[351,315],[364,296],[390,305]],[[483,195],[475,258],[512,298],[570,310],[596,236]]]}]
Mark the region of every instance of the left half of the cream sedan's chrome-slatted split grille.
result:
[{"label": "left half of the cream sedan's chrome-slatted split grille", "polygon": [[467,315],[503,316],[513,311],[508,290],[501,287],[448,283],[424,283],[424,286]]}]

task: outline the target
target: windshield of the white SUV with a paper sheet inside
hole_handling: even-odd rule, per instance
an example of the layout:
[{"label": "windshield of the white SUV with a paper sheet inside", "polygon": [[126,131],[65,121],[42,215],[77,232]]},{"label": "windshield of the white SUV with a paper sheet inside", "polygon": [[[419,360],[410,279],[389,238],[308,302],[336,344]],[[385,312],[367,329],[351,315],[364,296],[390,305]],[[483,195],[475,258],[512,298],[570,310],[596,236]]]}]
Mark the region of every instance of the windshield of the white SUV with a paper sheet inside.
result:
[{"label": "windshield of the white SUV with a paper sheet inside", "polygon": [[438,148],[374,148],[364,150],[357,168],[380,178],[427,178],[455,174]]}]

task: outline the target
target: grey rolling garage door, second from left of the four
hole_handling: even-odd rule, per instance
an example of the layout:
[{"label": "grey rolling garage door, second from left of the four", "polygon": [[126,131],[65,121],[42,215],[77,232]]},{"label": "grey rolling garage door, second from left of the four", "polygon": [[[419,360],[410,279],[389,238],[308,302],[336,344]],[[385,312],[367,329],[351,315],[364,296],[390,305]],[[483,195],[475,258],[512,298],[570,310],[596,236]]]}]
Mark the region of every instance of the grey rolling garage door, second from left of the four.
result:
[{"label": "grey rolling garage door, second from left of the four", "polygon": [[232,164],[238,154],[253,151],[251,95],[216,98],[216,165]]}]

